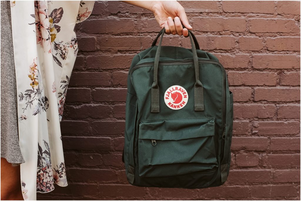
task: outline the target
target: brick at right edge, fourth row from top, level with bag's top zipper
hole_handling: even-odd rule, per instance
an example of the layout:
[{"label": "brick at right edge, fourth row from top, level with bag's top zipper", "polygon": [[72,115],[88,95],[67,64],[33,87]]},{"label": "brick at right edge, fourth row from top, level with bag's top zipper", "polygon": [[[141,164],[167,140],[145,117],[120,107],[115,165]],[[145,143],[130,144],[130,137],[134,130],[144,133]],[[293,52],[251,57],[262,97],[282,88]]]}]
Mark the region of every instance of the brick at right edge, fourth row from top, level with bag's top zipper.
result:
[{"label": "brick at right edge, fourth row from top, level with bag's top zipper", "polygon": [[300,55],[296,54],[253,54],[255,69],[292,69],[300,68]]}]

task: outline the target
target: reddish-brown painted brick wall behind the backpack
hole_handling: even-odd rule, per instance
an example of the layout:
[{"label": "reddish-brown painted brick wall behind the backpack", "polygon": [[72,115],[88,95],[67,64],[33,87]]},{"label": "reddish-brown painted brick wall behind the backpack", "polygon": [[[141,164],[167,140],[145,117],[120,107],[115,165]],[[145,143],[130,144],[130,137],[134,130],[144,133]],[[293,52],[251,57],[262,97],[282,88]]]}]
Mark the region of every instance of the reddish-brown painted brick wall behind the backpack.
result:
[{"label": "reddish-brown painted brick wall behind the backpack", "polygon": [[[79,54],[61,123],[69,186],[38,199],[300,199],[300,3],[180,2],[200,47],[234,93],[231,171],[222,187],[133,187],[121,154],[127,71],[160,27],[149,11],[95,2],[77,25]],[[189,48],[165,36],[163,45]]]}]

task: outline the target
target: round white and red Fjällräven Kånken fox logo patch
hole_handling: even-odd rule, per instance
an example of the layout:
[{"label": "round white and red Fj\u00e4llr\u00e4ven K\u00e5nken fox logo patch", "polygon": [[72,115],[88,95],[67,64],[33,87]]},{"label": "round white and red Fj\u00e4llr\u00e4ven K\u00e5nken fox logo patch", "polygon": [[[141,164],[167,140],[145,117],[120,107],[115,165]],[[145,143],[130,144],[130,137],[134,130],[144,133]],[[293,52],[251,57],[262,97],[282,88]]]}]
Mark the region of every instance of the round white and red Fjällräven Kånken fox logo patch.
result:
[{"label": "round white and red Fj\u00e4llr\u00e4ven K\u00e5nken fox logo patch", "polygon": [[173,85],[165,91],[164,101],[167,107],[172,110],[182,109],[188,101],[187,91],[179,85]]}]

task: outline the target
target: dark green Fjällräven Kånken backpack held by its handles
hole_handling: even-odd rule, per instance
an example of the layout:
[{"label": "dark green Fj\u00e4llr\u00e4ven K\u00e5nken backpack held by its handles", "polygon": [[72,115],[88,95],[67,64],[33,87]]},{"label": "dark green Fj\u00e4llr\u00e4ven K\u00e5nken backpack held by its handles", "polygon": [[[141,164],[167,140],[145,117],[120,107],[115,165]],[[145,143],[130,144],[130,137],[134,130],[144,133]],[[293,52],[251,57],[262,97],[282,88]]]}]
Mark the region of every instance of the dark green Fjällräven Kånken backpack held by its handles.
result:
[{"label": "dark green Fj\u00e4llr\u00e4ven K\u00e5nken backpack held by its handles", "polygon": [[141,187],[220,186],[229,174],[233,126],[226,71],[191,31],[191,49],[161,46],[164,33],[135,55],[129,70],[127,179]]}]

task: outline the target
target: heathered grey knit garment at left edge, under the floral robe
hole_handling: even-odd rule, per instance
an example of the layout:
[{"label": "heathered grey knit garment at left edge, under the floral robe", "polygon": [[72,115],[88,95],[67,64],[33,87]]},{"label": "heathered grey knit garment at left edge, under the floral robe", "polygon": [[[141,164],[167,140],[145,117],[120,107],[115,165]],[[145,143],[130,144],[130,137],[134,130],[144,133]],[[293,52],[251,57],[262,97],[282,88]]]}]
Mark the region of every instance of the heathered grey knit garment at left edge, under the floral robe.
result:
[{"label": "heathered grey knit garment at left edge, under the floral robe", "polygon": [[25,162],[18,137],[17,84],[10,1],[1,1],[1,157],[13,166]]}]

